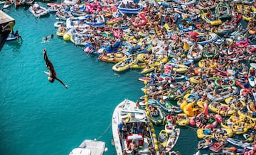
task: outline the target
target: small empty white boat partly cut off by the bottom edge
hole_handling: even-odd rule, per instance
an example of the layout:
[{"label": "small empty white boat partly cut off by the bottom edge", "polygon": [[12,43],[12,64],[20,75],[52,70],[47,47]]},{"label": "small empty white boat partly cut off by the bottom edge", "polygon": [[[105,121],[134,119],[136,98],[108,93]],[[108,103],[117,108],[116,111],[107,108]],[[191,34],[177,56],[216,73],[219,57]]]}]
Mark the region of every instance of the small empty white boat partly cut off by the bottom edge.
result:
[{"label": "small empty white boat partly cut off by the bottom edge", "polygon": [[102,155],[107,151],[105,142],[85,139],[78,148],[70,151],[69,155]]}]

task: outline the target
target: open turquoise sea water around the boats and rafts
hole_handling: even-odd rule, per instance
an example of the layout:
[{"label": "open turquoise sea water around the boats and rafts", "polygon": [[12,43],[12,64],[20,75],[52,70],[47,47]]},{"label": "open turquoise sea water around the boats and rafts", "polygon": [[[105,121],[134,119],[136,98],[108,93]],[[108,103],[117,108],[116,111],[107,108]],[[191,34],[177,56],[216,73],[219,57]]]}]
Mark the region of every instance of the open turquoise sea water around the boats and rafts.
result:
[{"label": "open turquoise sea water around the boats and rafts", "polygon": [[[109,128],[112,111],[124,98],[136,101],[143,95],[143,83],[137,81],[142,75],[116,74],[113,64],[100,62],[56,35],[43,43],[44,36],[56,32],[53,14],[35,18],[23,6],[5,12],[16,19],[14,30],[23,42],[6,42],[0,52],[1,155],[69,154],[84,139],[95,138],[107,143],[107,155],[116,154]],[[51,84],[43,74],[44,48],[68,90],[58,81]],[[194,154],[197,143],[196,132],[181,127],[174,150]]]}]

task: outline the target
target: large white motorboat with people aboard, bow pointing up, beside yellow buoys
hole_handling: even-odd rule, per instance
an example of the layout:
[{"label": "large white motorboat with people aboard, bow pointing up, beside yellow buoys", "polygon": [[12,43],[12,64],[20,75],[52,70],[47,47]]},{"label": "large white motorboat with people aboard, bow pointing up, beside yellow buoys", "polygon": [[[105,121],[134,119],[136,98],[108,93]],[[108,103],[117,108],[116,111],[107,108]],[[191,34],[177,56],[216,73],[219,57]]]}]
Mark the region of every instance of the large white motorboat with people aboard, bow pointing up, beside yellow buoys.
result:
[{"label": "large white motorboat with people aboard, bow pointing up, beside yellow buoys", "polygon": [[[132,154],[132,150],[129,150],[129,144],[132,141],[137,144],[137,154],[150,155],[149,147],[153,149],[158,147],[154,145],[157,140],[152,127],[145,110],[137,108],[136,103],[128,99],[119,103],[112,115],[112,142],[114,142],[117,155],[121,155],[124,151]],[[119,132],[118,129],[121,131]]]}]

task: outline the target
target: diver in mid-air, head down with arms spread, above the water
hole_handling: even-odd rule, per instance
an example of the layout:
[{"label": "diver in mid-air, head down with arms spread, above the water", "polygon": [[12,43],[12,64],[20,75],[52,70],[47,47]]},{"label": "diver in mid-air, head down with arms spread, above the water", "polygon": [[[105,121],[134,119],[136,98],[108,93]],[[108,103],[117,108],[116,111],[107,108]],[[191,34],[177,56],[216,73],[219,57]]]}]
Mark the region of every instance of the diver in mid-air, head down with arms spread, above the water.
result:
[{"label": "diver in mid-air, head down with arms spread, above the water", "polygon": [[53,63],[50,62],[50,60],[47,57],[46,54],[46,49],[43,50],[43,59],[45,59],[46,61],[46,67],[50,70],[49,72],[47,71],[43,71],[45,74],[48,75],[48,81],[50,81],[51,83],[53,83],[56,80],[60,81],[61,84],[63,84],[63,86],[65,86],[65,88],[68,88],[68,85],[65,85],[63,83],[63,81],[61,81],[60,79],[58,79],[57,74],[55,72],[55,69],[53,67]]}]

